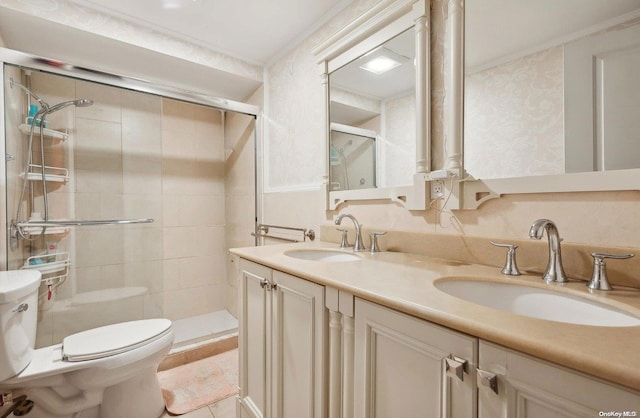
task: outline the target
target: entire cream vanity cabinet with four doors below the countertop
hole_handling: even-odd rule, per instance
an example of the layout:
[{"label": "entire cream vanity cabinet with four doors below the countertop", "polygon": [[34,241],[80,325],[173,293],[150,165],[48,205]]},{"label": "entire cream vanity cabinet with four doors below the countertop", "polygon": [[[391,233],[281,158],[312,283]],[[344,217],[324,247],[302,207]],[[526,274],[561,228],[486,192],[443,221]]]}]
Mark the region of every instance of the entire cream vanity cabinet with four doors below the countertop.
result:
[{"label": "entire cream vanity cabinet with four doors below the countertop", "polygon": [[240,269],[240,418],[640,416],[640,392],[245,259]]}]

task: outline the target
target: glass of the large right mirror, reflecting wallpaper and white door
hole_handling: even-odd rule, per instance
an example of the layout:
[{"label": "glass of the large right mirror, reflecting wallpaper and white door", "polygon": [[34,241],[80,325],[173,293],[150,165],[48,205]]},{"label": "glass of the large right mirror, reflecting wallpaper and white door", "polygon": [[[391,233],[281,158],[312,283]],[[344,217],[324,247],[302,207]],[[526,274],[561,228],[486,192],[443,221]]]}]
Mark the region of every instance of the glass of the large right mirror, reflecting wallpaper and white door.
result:
[{"label": "glass of the large right mirror, reflecting wallpaper and white door", "polygon": [[637,0],[466,0],[466,171],[640,168],[639,68]]}]

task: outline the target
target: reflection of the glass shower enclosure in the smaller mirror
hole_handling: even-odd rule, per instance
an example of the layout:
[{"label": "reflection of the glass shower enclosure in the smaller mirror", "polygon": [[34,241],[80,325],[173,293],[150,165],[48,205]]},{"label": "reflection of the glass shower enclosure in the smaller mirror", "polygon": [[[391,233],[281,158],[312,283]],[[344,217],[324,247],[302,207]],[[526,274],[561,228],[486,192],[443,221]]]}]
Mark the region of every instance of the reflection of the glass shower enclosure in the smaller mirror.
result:
[{"label": "reflection of the glass shower enclosure in the smaller mirror", "polygon": [[376,133],[332,123],[330,141],[331,190],[376,187]]}]

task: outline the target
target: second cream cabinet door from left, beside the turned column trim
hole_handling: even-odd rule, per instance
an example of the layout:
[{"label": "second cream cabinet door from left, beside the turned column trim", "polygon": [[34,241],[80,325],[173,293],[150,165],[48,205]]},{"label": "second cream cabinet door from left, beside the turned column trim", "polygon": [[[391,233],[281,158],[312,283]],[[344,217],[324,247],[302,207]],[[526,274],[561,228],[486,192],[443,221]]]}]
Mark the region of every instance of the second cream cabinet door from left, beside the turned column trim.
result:
[{"label": "second cream cabinet door from left, beside the turned column trim", "polygon": [[325,416],[324,287],[273,272],[273,416]]}]

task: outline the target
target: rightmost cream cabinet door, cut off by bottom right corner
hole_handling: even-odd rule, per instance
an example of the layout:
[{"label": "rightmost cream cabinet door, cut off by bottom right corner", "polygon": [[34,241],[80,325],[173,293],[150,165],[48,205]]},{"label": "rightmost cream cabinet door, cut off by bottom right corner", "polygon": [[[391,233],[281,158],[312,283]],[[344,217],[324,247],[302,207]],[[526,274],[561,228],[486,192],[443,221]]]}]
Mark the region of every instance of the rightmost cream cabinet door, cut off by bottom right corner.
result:
[{"label": "rightmost cream cabinet door, cut off by bottom right corner", "polygon": [[484,341],[479,369],[498,383],[479,388],[480,418],[640,416],[640,393]]}]

